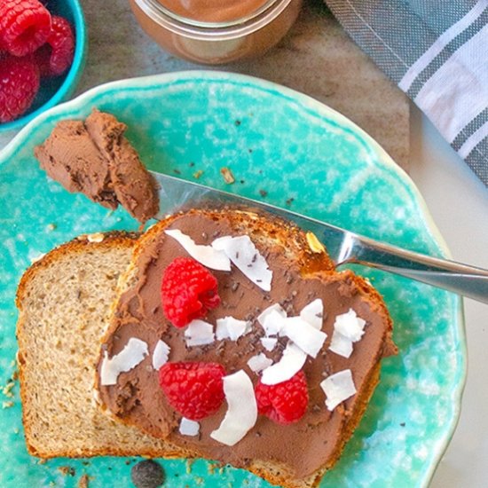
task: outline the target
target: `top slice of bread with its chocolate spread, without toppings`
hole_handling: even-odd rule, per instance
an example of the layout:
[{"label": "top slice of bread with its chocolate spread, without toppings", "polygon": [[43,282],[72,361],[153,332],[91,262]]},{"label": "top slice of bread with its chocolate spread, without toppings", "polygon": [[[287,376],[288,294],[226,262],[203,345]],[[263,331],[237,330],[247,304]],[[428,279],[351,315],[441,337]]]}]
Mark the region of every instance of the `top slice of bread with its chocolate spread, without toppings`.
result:
[{"label": "top slice of bread with its chocolate spread, without toppings", "polygon": [[[354,303],[358,311],[364,313],[369,323],[366,326],[365,337],[355,345],[354,350],[357,364],[353,371],[358,379],[358,394],[335,408],[335,412],[330,415],[330,429],[327,427],[322,429],[328,422],[328,414],[324,413],[325,397],[318,383],[324,378],[322,374],[332,374],[349,366],[347,366],[347,359],[335,357],[334,353],[327,352],[327,358],[330,359],[325,359],[323,365],[325,369],[320,371],[313,369],[313,361],[310,358],[304,366],[305,374],[313,378],[313,382],[309,385],[313,403],[305,417],[298,422],[296,430],[294,430],[295,426],[277,426],[269,419],[260,416],[255,428],[251,429],[247,437],[237,445],[232,447],[218,445],[216,441],[209,438],[209,432],[216,429],[222,421],[226,408],[224,403],[216,415],[201,421],[199,439],[201,438],[203,442],[178,434],[181,415],[168,405],[158,386],[157,372],[151,368],[151,357],[158,339],[170,344],[170,361],[218,361],[228,372],[240,368],[247,369],[248,358],[256,354],[257,350],[244,338],[242,338],[244,342],[242,340],[238,342],[240,349],[230,357],[229,354],[225,356],[228,344],[223,348],[223,355],[216,354],[216,346],[212,345],[193,349],[178,346],[178,342],[185,344],[184,329],[170,326],[162,315],[159,290],[162,272],[169,262],[177,256],[188,255],[184,248],[179,247],[165,235],[165,230],[168,228],[179,229],[189,234],[197,244],[207,245],[216,236],[248,235],[263,256],[279,256],[279,264],[274,263],[273,280],[282,286],[284,281],[287,282],[287,279],[283,278],[287,276],[287,272],[293,270],[295,273],[296,280],[293,285],[280,288],[282,295],[277,293],[277,288],[272,288],[268,295],[256,293],[256,287],[249,287],[248,282],[242,279],[240,272],[236,272],[234,268],[231,273],[214,272],[219,283],[218,289],[224,309],[210,311],[206,317],[209,323],[215,324],[216,318],[227,314],[233,315],[232,311],[243,313],[238,310],[239,299],[232,296],[232,283],[236,281],[239,281],[238,289],[251,296],[249,299],[245,298],[245,295],[240,295],[240,300],[251,301],[245,312],[254,312],[254,318],[251,319],[253,321],[259,311],[275,302],[291,304],[291,310],[294,312],[292,315],[296,315],[305,303],[310,303],[309,285],[310,281],[314,281],[315,284],[323,285],[324,289],[327,288],[327,293],[322,295],[326,311],[323,330],[328,335],[323,349],[325,357],[333,335],[335,314],[339,310],[341,313],[347,312],[350,303]],[[234,317],[243,319],[244,315],[242,317],[234,315]],[[256,322],[253,327],[254,333],[259,335],[259,326]],[[100,398],[102,406],[117,416],[123,425],[135,425],[154,437],[169,439],[172,444],[180,446],[186,455],[223,460],[236,467],[247,468],[272,484],[281,484],[289,488],[307,488],[319,484],[321,476],[327,468],[335,464],[344,444],[356,429],[379,380],[381,358],[396,352],[391,333],[390,316],[381,295],[365,279],[354,273],[335,272],[325,250],[317,245],[316,240],[294,225],[250,212],[192,210],[182,215],[170,216],[154,225],[138,240],[130,267],[122,275],[118,302],[115,303],[110,327],[102,340],[98,371],[105,354],[108,353],[108,357],[118,354],[132,337],[146,342],[150,352],[138,366],[120,374],[117,384],[113,386],[98,384]],[[258,340],[254,345],[257,342]],[[321,355],[322,353],[319,357]],[[275,356],[273,359],[278,360],[279,356]],[[321,358],[320,361],[324,359]],[[249,370],[248,374],[256,382],[256,374],[253,376]],[[317,409],[323,413],[318,414]],[[302,432],[302,438],[294,437],[294,432]],[[306,432],[305,437],[303,432]],[[321,433],[324,432],[328,432],[330,437],[321,437]],[[267,448],[265,440],[270,438],[274,439],[275,443],[287,446],[285,456],[289,462],[278,457],[273,458],[272,449]],[[322,456],[321,452],[323,452]],[[305,473],[297,475],[297,462],[295,461],[295,468],[292,466],[294,458],[299,460],[298,469],[305,471],[307,468],[303,466],[306,465],[309,455],[319,456],[319,462],[314,461],[316,468],[313,470],[308,468]]]}]

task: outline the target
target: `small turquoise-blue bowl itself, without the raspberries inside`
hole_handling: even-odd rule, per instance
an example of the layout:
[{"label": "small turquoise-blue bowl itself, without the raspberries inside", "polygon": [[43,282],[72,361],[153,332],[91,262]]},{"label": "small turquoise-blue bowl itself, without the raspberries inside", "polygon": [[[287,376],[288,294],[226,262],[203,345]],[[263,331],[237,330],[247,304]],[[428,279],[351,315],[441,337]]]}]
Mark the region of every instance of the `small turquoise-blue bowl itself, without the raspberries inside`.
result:
[{"label": "small turquoise-blue bowl itself, without the raspberries inside", "polygon": [[60,15],[75,29],[75,56],[69,71],[53,78],[41,80],[41,88],[28,112],[12,122],[0,123],[0,132],[19,130],[44,110],[66,100],[75,91],[83,73],[87,51],[86,26],[82,6],[78,0],[51,0],[47,8],[52,14]]}]

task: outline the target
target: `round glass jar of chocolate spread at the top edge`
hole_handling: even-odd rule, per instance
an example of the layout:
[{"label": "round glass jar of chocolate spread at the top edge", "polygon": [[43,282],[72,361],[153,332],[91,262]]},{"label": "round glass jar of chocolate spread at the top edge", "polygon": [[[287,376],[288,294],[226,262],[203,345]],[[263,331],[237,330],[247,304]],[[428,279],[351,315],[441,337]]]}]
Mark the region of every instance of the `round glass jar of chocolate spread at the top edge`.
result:
[{"label": "round glass jar of chocolate spread at the top edge", "polygon": [[[163,49],[179,58],[202,64],[222,64],[259,56],[287,34],[296,20],[303,0],[240,0],[240,12],[233,18],[208,20],[199,12],[169,10],[164,0],[130,0],[141,27]],[[224,0],[220,1],[224,4]],[[234,14],[237,12],[234,12]],[[223,17],[220,15],[220,17]]]}]

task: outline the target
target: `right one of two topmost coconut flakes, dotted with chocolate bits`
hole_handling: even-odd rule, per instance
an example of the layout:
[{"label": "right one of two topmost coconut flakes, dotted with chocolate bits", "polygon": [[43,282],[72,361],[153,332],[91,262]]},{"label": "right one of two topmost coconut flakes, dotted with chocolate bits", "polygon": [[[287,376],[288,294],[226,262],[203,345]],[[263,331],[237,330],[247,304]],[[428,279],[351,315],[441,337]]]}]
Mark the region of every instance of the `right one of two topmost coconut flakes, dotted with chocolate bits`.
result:
[{"label": "right one of two topmost coconut flakes, dotted with chocolate bits", "polygon": [[224,251],[232,263],[258,287],[264,291],[272,289],[272,271],[248,235],[219,237],[212,242],[212,248]]}]

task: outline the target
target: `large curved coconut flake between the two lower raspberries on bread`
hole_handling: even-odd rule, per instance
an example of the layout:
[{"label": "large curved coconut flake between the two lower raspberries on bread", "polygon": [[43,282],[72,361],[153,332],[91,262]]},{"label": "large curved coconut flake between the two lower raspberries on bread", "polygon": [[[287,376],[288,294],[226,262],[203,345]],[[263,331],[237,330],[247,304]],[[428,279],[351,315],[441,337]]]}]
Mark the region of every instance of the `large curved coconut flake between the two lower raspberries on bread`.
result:
[{"label": "large curved coconut flake between the two lower raspberries on bread", "polygon": [[253,383],[241,369],[224,376],[227,412],[219,428],[210,437],[224,445],[235,445],[252,429],[257,420],[257,405]]}]

